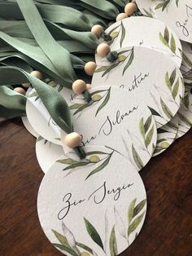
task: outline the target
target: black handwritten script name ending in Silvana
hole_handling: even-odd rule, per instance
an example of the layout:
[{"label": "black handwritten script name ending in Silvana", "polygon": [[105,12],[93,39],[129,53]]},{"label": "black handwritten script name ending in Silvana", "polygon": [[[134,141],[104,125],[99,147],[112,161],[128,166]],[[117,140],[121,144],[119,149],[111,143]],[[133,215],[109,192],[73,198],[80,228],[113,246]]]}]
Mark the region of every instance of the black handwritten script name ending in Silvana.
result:
[{"label": "black handwritten script name ending in Silvana", "polygon": [[137,111],[137,108],[138,106],[134,106],[132,109],[129,109],[129,111],[125,113],[120,113],[120,110],[117,110],[115,118],[107,116],[106,120],[103,122],[103,125],[99,128],[98,133],[85,140],[83,135],[81,135],[82,146],[85,147],[86,144],[89,144],[92,140],[97,139],[101,134],[105,136],[111,135],[114,127],[120,125],[125,118],[129,117],[129,115]]}]

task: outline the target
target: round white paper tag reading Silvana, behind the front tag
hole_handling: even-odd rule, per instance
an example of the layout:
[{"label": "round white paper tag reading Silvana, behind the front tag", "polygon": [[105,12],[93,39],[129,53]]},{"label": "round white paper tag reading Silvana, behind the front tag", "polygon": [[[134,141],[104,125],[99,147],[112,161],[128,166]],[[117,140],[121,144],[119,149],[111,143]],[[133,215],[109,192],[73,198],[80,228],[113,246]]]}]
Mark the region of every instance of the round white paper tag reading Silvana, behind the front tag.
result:
[{"label": "round white paper tag reading Silvana, behind the front tag", "polygon": [[82,137],[81,146],[113,148],[141,170],[150,161],[156,144],[155,119],[145,105],[129,98],[126,90],[100,86],[89,91],[91,103],[70,106],[74,130]]}]

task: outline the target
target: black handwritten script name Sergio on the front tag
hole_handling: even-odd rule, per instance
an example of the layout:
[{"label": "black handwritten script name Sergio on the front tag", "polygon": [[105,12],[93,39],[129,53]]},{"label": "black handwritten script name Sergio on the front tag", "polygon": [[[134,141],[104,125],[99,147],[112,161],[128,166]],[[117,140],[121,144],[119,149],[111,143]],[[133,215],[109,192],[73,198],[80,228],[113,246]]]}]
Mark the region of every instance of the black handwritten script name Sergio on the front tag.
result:
[{"label": "black handwritten script name Sergio on the front tag", "polygon": [[76,207],[77,205],[81,205],[87,201],[92,201],[95,205],[100,205],[103,203],[103,201],[105,201],[105,199],[107,199],[107,196],[111,196],[113,201],[118,201],[122,195],[122,192],[131,188],[133,184],[134,183],[129,183],[117,188],[107,188],[107,182],[105,181],[102,186],[97,188],[87,198],[79,200],[73,199],[72,193],[69,192],[63,196],[63,208],[59,210],[58,218],[59,220],[62,220],[69,214],[72,207]]}]

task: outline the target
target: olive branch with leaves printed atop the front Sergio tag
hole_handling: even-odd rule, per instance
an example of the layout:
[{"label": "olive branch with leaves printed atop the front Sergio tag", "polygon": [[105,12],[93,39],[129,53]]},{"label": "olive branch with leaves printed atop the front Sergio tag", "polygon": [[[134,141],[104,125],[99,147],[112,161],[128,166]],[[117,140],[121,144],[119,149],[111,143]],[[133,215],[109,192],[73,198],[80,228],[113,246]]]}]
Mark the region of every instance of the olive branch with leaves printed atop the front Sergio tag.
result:
[{"label": "olive branch with leaves printed atop the front Sergio tag", "polygon": [[[108,148],[106,146],[106,148]],[[117,152],[115,149],[111,149],[111,152],[101,152],[101,151],[92,151],[92,152],[86,152],[86,158],[85,160],[82,161],[76,161],[73,160],[72,158],[66,158],[66,159],[60,159],[56,162],[66,165],[63,170],[72,170],[77,167],[82,167],[82,166],[97,166],[94,170],[92,170],[89,175],[86,177],[86,179],[89,179],[90,176],[98,173],[99,171],[103,170],[111,160],[111,157],[114,152]],[[118,152],[120,153],[120,152]],[[103,156],[103,157],[101,157]],[[100,158],[101,157],[101,158]],[[100,164],[100,165],[99,165]]]}]

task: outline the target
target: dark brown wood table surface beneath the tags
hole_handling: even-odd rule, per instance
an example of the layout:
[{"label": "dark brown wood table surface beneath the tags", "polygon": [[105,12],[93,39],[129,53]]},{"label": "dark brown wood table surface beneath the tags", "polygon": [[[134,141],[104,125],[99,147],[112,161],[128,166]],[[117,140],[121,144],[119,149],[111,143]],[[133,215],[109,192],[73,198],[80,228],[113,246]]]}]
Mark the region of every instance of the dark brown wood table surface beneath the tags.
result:
[{"label": "dark brown wood table surface beneath the tags", "polygon": [[[142,232],[124,255],[192,255],[192,130],[141,171],[148,211]],[[0,121],[0,255],[63,255],[37,217],[43,172],[35,139],[20,119]]]}]

